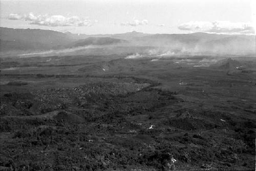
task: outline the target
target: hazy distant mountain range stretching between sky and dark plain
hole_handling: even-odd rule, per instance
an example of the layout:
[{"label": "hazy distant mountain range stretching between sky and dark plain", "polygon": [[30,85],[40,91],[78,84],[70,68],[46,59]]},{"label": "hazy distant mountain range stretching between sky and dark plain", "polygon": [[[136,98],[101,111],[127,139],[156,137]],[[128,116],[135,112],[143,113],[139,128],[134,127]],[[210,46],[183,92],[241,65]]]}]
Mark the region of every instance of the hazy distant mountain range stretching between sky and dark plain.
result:
[{"label": "hazy distant mountain range stretching between sky and dark plain", "polygon": [[54,50],[88,45],[158,46],[182,52],[248,54],[255,51],[255,36],[192,34],[72,34],[40,29],[0,28],[1,52]]}]

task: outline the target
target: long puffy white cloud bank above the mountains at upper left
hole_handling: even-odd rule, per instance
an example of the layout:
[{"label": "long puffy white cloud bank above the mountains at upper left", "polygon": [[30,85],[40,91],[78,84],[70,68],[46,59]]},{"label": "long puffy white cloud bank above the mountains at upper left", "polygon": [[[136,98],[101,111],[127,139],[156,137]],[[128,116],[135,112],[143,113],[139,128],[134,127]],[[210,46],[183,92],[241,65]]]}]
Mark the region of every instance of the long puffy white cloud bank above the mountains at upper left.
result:
[{"label": "long puffy white cloud bank above the mountains at upper left", "polygon": [[32,12],[27,15],[10,14],[8,19],[30,21],[31,25],[39,26],[92,26],[93,21],[77,16],[65,17],[62,15],[34,15]]}]

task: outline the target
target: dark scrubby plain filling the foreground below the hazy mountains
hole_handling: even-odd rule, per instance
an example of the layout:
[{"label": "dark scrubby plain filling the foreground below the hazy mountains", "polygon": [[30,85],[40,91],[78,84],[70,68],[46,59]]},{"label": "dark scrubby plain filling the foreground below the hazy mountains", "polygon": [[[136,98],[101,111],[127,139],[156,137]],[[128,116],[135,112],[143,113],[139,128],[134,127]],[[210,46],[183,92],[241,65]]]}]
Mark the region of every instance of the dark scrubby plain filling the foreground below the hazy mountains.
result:
[{"label": "dark scrubby plain filling the foreground below the hazy mountains", "polygon": [[1,60],[0,170],[254,170],[253,57]]}]

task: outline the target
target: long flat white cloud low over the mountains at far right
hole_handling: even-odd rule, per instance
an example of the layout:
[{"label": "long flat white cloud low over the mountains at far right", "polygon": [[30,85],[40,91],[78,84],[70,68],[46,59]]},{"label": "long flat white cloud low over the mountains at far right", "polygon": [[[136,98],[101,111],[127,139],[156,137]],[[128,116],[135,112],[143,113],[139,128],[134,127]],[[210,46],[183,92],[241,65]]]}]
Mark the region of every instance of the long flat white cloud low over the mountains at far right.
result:
[{"label": "long flat white cloud low over the mountains at far right", "polygon": [[190,21],[178,27],[180,30],[192,32],[209,32],[225,34],[254,34],[252,23],[250,22],[230,22],[230,21]]}]

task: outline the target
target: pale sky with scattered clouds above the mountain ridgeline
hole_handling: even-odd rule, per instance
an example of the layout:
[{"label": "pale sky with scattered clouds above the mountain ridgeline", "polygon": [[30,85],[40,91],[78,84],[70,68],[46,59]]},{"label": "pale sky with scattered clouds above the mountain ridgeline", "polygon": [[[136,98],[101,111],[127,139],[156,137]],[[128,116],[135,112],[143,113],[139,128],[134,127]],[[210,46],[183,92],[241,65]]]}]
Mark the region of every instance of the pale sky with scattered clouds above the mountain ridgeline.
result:
[{"label": "pale sky with scattered clouds above the mountain ridgeline", "polygon": [[0,0],[0,26],[80,34],[254,35],[253,0]]}]

